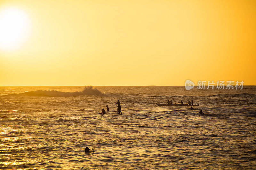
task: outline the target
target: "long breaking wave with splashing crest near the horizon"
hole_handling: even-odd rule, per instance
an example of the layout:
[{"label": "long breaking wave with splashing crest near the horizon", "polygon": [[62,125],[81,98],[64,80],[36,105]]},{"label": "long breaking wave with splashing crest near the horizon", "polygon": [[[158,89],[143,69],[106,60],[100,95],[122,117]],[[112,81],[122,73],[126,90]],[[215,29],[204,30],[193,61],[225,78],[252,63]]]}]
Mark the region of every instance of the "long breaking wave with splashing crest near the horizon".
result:
[{"label": "long breaking wave with splashing crest near the horizon", "polygon": [[[12,94],[15,95],[15,94]],[[17,94],[16,94],[17,95]],[[107,96],[104,92],[100,92],[93,86],[85,86],[83,91],[80,92],[60,92],[56,90],[36,90],[31,92],[20,93],[20,95],[27,96],[42,96],[42,97],[71,97],[81,95],[94,95],[94,96]]]}]

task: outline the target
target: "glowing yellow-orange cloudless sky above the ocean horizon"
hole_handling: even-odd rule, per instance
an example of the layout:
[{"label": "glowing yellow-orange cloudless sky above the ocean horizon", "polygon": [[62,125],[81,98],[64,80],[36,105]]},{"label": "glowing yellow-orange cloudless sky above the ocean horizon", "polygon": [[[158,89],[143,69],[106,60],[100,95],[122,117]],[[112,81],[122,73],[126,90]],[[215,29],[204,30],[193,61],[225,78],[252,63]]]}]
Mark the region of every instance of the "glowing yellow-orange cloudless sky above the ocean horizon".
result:
[{"label": "glowing yellow-orange cloudless sky above the ocean horizon", "polygon": [[0,86],[256,85],[253,0],[0,0],[6,8],[26,14],[29,32],[0,48]]}]

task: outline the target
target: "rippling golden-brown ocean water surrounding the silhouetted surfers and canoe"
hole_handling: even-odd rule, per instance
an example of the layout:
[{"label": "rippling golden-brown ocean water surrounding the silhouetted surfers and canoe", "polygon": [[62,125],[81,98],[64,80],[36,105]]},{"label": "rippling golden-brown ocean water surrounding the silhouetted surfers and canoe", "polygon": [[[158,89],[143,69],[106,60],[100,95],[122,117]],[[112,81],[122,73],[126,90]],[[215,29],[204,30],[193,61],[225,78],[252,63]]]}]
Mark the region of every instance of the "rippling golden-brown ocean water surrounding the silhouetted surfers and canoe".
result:
[{"label": "rippling golden-brown ocean water surrounding the silhouetted surfers and canoe", "polygon": [[[256,86],[0,87],[0,169],[255,169],[255,94]],[[194,100],[205,115],[156,105],[167,99]]]}]

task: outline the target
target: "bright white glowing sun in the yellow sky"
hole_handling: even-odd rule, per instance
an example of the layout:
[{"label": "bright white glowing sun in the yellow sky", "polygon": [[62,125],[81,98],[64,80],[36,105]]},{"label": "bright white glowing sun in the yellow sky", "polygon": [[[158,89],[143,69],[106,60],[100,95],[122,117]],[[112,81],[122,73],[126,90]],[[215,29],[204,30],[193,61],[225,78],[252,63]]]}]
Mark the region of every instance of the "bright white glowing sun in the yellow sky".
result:
[{"label": "bright white glowing sun in the yellow sky", "polygon": [[26,40],[29,18],[19,8],[0,9],[0,49],[13,50]]}]

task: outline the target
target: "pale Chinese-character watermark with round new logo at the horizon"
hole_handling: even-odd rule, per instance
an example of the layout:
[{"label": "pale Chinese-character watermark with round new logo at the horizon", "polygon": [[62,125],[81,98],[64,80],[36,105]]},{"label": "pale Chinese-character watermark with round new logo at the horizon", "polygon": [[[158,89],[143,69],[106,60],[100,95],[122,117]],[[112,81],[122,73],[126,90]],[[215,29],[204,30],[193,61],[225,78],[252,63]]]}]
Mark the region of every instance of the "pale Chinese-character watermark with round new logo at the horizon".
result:
[{"label": "pale Chinese-character watermark with round new logo at the horizon", "polygon": [[[224,89],[227,89],[227,90],[230,90],[230,89],[235,89],[235,90],[242,90],[243,89],[243,85],[244,85],[244,81],[217,81],[217,82],[214,82],[214,81],[197,81],[197,87],[196,89],[198,90],[204,90],[204,89],[219,89],[219,90],[224,90]],[[186,90],[190,90],[190,89],[193,89],[195,86],[195,83],[191,80],[186,80],[185,82],[185,88]]]}]

